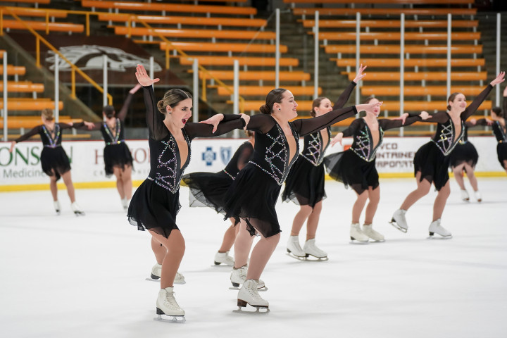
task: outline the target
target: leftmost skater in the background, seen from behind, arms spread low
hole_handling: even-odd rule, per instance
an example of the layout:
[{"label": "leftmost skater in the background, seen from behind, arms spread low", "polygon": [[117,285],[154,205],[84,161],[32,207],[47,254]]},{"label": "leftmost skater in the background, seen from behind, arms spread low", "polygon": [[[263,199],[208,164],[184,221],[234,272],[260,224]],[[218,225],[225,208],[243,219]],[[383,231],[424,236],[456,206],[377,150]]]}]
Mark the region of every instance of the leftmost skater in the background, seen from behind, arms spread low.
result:
[{"label": "leftmost skater in the background, seen from behind, arms spread low", "polygon": [[53,111],[49,108],[43,109],[41,113],[42,125],[37,125],[30,132],[21,135],[15,139],[11,144],[10,151],[12,152],[14,146],[18,142],[23,142],[35,134],[39,134],[44,145],[41,152],[41,165],[42,171],[49,176],[49,189],[53,196],[53,205],[57,215],[60,215],[61,207],[58,201],[58,186],[56,182],[63,178],[65,187],[67,187],[67,194],[70,199],[70,208],[75,215],[84,215],[84,211],[75,201],[74,184],[70,176],[70,162],[61,146],[61,132],[65,129],[76,128],[85,129],[84,123],[56,123],[54,121]]}]

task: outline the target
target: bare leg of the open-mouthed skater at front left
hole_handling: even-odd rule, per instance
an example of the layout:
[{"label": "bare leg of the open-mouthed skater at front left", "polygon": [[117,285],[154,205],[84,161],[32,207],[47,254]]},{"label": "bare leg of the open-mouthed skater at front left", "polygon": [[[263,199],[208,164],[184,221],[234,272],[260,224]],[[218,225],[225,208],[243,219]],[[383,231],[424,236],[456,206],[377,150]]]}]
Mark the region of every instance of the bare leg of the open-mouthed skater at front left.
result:
[{"label": "bare leg of the open-mouthed skater at front left", "polygon": [[168,238],[150,230],[151,236],[167,250],[162,262],[161,289],[173,287],[174,280],[183,258],[185,244],[180,230],[171,231]]}]

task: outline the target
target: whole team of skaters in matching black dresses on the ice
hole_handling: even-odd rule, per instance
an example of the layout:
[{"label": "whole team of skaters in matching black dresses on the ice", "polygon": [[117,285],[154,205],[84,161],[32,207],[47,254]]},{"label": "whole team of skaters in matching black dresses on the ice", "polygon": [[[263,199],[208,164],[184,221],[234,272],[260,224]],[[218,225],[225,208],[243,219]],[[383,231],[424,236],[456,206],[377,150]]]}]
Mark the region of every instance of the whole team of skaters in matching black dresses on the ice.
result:
[{"label": "whole team of skaters in matching black dresses on the ice", "polygon": [[[188,122],[192,116],[192,95],[182,89],[170,89],[163,99],[157,100],[151,79],[142,65],[137,65],[139,84],[130,90],[120,113],[112,106],[104,107],[103,123],[55,123],[51,111],[42,112],[42,125],[16,139],[21,142],[39,134],[44,144],[41,163],[44,173],[51,178],[51,193],[57,212],[56,181],[63,177],[73,211],[83,211],[75,202],[70,179],[70,164],[61,148],[61,130],[101,130],[106,142],[104,162],[106,175],[115,175],[117,188],[130,224],[151,234],[151,248],[156,265],[151,277],[160,279],[161,289],[156,299],[156,313],[167,315],[176,323],[184,321],[184,310],[174,296],[174,284],[184,282],[178,273],[185,244],[177,226],[176,216],[180,210],[180,182],[189,187],[191,206],[209,206],[230,220],[223,243],[215,255],[215,264],[232,265],[230,280],[241,286],[237,305],[268,309],[269,303],[258,293],[266,289],[261,275],[280,241],[280,223],[275,204],[282,200],[299,205],[287,242],[287,251],[294,258],[327,259],[327,253],[315,244],[322,201],[325,199],[325,170],[330,177],[343,182],[356,193],[352,208],[350,237],[352,242],[383,242],[384,236],[373,229],[373,218],[380,200],[379,177],[375,168],[375,153],[382,144],[385,130],[411,125],[415,122],[435,123],[437,132],[430,142],[418,149],[414,158],[414,175],[417,188],[413,190],[392,216],[392,225],[406,232],[406,213],[416,201],[425,196],[433,184],[437,189],[434,201],[430,236],[451,238],[451,232],[441,225],[442,213],[450,194],[449,166],[456,175],[463,200],[468,192],[463,186],[463,173],[469,177],[475,198],[481,201],[477,180],[473,175],[477,163],[477,151],[468,142],[466,131],[475,125],[492,125],[498,141],[499,162],[507,173],[507,130],[504,107],[493,108],[491,119],[470,120],[482,101],[496,84],[504,81],[502,72],[467,104],[465,96],[453,93],[447,100],[446,110],[418,115],[403,113],[399,118],[377,118],[382,101],[369,97],[364,104],[344,107],[358,82],[365,77],[361,65],[354,80],[332,104],[330,99],[320,97],[313,101],[312,118],[297,119],[298,104],[293,94],[282,88],[273,89],[266,96],[265,104],[256,115],[216,114],[199,123]],[[149,176],[132,196],[132,157],[125,144],[123,119],[132,95],[143,88],[146,106],[146,124],[149,130],[150,165]],[[503,92],[507,96],[507,88]],[[445,107],[443,107],[445,108]],[[330,126],[365,111],[363,118],[353,120],[351,125],[334,138]],[[235,129],[244,129],[249,139],[234,153],[230,162],[218,173],[190,173],[184,175],[190,160],[191,142],[196,137],[215,137]],[[303,137],[303,149],[299,138]],[[324,156],[328,146],[341,143],[343,137],[352,137],[346,151]],[[284,184],[285,183],[285,184]],[[282,191],[282,186],[284,189]],[[130,200],[130,198],[132,198]],[[366,202],[368,201],[368,204]],[[361,227],[360,216],[365,210]],[[299,232],[306,222],[306,241],[301,248]],[[253,246],[253,239],[259,237]],[[234,245],[234,258],[229,251]],[[252,249],[253,246],[253,249]],[[162,318],[164,320],[164,318]]]}]

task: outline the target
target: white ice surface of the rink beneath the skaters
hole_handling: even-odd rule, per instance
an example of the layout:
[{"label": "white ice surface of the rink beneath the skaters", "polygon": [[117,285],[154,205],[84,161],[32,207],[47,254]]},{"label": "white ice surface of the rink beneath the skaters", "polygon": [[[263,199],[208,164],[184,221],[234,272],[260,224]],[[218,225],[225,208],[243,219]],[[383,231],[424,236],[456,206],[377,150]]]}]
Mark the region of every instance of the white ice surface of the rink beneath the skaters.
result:
[{"label": "white ice surface of the rink beneath the skaters", "polygon": [[213,265],[228,223],[189,208],[182,187],[183,325],[153,320],[150,236],[127,223],[115,189],[77,189],[87,213],[79,218],[65,190],[59,216],[49,190],[0,193],[1,337],[506,337],[507,177],[479,177],[479,186],[482,203],[465,203],[451,181],[442,225],[453,239],[428,239],[435,193],[408,211],[403,234],[387,221],[415,180],[383,179],[374,227],[386,242],[361,245],[349,242],[355,194],[327,181],[323,262],[286,255],[298,207],[279,201],[282,237],[262,276],[266,315],[233,312],[231,268]]}]

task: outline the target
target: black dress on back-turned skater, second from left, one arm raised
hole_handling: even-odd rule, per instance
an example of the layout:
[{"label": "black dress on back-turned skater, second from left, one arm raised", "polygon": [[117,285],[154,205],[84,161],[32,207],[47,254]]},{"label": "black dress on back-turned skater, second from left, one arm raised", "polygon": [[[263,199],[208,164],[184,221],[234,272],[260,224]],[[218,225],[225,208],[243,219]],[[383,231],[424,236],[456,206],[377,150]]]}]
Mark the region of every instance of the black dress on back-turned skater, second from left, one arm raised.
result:
[{"label": "black dress on back-turned skater, second from left, one arm raised", "polygon": [[106,121],[95,123],[92,130],[100,130],[106,146],[104,147],[104,171],[106,176],[113,175],[113,168],[125,170],[125,166],[133,166],[132,154],[125,144],[125,116],[127,115],[130,101],[133,94],[128,94],[127,99],[123,103],[123,107],[116,115],[116,126],[113,130],[108,126]]}]

